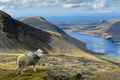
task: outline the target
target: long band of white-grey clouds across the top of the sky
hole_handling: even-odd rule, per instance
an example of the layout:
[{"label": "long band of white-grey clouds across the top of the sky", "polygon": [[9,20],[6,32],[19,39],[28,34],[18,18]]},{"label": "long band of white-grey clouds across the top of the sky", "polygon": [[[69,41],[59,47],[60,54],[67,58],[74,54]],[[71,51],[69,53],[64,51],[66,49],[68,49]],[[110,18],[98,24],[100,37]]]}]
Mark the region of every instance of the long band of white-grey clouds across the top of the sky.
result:
[{"label": "long band of white-grey clouds across the top of the sky", "polygon": [[[109,3],[108,3],[109,1]],[[80,10],[106,10],[116,7],[119,0],[0,0],[0,9],[25,9],[42,7],[61,7],[65,9],[78,8]],[[108,6],[109,4],[109,6]]]}]

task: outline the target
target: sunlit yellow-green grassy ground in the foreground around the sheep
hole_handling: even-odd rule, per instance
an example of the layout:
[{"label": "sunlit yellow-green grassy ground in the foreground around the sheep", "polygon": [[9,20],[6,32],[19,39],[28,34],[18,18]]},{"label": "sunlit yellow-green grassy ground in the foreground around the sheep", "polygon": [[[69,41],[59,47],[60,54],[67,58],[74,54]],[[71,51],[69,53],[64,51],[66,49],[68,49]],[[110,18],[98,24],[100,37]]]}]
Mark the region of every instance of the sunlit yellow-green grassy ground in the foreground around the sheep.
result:
[{"label": "sunlit yellow-green grassy ground in the foreground around the sheep", "polygon": [[[49,70],[69,74],[69,80],[75,80],[82,73],[87,80],[120,80],[119,67],[103,61],[82,50],[73,50],[70,54],[50,54],[43,63],[38,64],[37,72],[31,67],[22,75],[16,75],[16,59],[21,53],[0,55],[0,80],[44,80]],[[52,73],[51,73],[52,74]],[[59,79],[58,79],[59,80]]]}]

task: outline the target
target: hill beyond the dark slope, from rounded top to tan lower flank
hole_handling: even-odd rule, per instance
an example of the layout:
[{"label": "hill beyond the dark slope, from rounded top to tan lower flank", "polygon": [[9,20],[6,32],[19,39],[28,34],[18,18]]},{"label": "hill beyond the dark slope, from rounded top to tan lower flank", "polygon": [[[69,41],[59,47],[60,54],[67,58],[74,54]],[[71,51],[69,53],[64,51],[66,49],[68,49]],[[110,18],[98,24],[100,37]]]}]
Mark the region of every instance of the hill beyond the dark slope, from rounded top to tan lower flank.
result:
[{"label": "hill beyond the dark slope, from rounded top to tan lower flank", "polygon": [[[52,44],[54,48],[57,48],[59,50],[71,50],[72,48],[82,48],[85,49],[85,44],[75,38],[72,38],[71,36],[67,35],[64,31],[62,31],[59,27],[56,25],[48,22],[46,19],[39,17],[39,16],[34,16],[34,17],[25,17],[20,19],[21,22],[33,26],[34,28],[37,29],[42,29],[47,32],[52,32],[55,34],[58,34],[59,37],[52,37]],[[54,34],[53,34],[54,35]],[[74,47],[73,47],[74,46]],[[67,49],[66,49],[67,48]],[[56,50],[56,49],[55,49]]]}]

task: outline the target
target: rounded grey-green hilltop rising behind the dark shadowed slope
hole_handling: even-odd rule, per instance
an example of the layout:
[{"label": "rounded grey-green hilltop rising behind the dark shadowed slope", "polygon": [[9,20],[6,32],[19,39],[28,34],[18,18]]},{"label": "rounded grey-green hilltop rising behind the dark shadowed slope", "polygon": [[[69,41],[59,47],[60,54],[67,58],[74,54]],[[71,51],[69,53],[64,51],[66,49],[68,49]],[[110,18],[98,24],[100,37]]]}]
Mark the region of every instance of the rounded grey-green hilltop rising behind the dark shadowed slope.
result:
[{"label": "rounded grey-green hilltop rising behind the dark shadowed slope", "polygon": [[20,21],[38,29],[49,30],[49,31],[54,31],[59,33],[63,32],[56,25],[48,22],[45,18],[40,16],[24,17],[24,18],[21,18]]}]

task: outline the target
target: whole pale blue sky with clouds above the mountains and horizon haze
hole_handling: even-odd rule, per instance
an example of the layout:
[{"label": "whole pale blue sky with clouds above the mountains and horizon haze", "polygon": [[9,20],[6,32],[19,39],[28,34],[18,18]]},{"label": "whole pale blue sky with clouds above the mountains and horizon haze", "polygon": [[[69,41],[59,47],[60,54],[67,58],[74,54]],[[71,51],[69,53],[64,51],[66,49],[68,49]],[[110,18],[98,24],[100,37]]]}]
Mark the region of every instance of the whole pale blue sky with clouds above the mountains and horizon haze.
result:
[{"label": "whole pale blue sky with clouds above the mountains and horizon haze", "polygon": [[120,0],[0,0],[0,10],[13,16],[119,13]]}]

